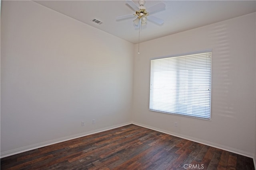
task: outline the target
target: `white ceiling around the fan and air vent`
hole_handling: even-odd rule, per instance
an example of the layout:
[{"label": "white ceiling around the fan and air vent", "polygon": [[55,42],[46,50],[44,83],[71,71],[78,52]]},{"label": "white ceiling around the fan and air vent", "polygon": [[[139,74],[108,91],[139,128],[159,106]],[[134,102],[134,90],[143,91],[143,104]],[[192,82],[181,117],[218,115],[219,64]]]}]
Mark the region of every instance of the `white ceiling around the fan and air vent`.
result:
[{"label": "white ceiling around the fan and air vent", "polygon": [[[126,4],[125,0],[41,0],[34,2],[131,43],[138,43],[138,28],[133,25],[136,17],[116,21],[117,16],[134,14],[134,10]],[[149,8],[160,2],[166,4],[165,10],[156,12],[152,16],[163,19],[164,24],[156,25],[148,21],[147,25],[142,26],[140,42],[256,12],[255,0],[146,0],[145,6]],[[134,0],[134,3],[138,4],[138,0]],[[102,24],[98,25],[92,22],[92,19],[100,20]]]}]

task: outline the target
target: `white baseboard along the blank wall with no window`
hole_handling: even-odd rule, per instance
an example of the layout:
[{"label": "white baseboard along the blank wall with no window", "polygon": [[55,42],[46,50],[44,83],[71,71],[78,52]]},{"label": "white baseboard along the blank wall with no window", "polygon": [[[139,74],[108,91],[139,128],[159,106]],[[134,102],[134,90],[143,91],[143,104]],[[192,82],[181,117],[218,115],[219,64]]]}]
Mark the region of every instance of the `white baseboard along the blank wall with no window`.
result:
[{"label": "white baseboard along the blank wall with no window", "polygon": [[130,125],[130,124],[132,124],[132,122],[121,123],[121,124],[118,124],[118,125],[104,127],[104,128],[96,129],[96,130],[93,130],[93,131],[79,133],[79,134],[76,134],[76,135],[71,135],[71,136],[62,137],[62,138],[58,138],[58,139],[53,139],[53,140],[50,140],[50,141],[45,141],[45,142],[42,142],[42,143],[29,145],[29,146],[26,146],[26,147],[21,147],[21,148],[17,148],[17,149],[8,150],[8,151],[5,151],[5,152],[1,152],[0,157],[4,158],[4,157],[11,156],[11,155],[14,155],[14,154],[18,154],[18,153],[21,153],[21,152],[26,152],[28,150],[33,150],[33,149],[38,149],[38,148],[41,148],[41,147],[46,147],[46,146],[53,145],[53,144],[56,144],[56,143],[76,139],[76,138],[79,138],[79,137],[84,137],[84,136],[87,136],[87,135],[92,135],[94,133],[99,133],[99,132],[107,131],[107,130],[110,130],[110,129],[115,129],[117,127],[122,127],[122,126]]}]

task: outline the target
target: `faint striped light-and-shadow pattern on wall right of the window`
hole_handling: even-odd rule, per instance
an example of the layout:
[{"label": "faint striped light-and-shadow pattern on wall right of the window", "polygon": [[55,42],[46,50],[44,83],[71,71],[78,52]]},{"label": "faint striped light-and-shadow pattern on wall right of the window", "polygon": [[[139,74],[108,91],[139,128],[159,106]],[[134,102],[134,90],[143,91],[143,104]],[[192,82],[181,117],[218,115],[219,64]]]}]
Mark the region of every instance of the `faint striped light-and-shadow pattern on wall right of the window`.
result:
[{"label": "faint striped light-and-shadow pattern on wall right of the window", "polygon": [[212,50],[212,111],[222,117],[234,117],[234,104],[230,101],[233,65],[228,32],[226,24],[222,24],[213,27],[210,35],[215,43]]}]

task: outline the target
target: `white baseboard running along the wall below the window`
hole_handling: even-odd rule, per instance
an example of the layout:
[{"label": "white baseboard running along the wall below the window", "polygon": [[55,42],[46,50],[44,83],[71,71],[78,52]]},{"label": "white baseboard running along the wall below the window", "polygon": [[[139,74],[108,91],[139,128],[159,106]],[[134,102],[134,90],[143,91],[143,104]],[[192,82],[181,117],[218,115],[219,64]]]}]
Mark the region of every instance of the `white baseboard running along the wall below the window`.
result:
[{"label": "white baseboard running along the wall below the window", "polygon": [[226,150],[228,152],[233,152],[233,153],[236,153],[236,154],[240,154],[240,155],[243,155],[243,156],[253,158],[254,159],[254,166],[255,166],[255,154],[253,154],[253,153],[244,152],[243,150],[227,147],[227,146],[220,145],[220,144],[217,144],[217,143],[212,143],[212,142],[209,142],[209,141],[204,141],[204,140],[201,140],[201,139],[197,139],[197,138],[194,138],[194,137],[182,135],[182,134],[175,133],[175,132],[172,132],[172,131],[166,131],[164,129],[160,129],[160,128],[149,126],[149,125],[144,125],[142,123],[138,123],[138,122],[134,122],[134,121],[132,121],[132,124],[138,125],[138,126],[141,126],[141,127],[145,127],[145,128],[148,128],[148,129],[152,129],[154,131],[159,131],[159,132],[162,132],[162,133],[166,133],[168,135],[180,137],[182,139],[187,139],[187,140],[194,141],[194,142],[197,142],[197,143],[202,143],[202,144],[208,145],[210,147]]}]

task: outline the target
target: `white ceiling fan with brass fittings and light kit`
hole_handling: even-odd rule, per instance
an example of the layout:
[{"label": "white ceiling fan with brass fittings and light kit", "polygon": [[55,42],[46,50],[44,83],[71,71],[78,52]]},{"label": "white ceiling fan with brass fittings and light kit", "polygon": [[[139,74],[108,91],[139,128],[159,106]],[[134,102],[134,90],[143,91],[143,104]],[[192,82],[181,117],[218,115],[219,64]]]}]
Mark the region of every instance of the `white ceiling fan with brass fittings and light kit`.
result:
[{"label": "white ceiling fan with brass fittings and light kit", "polygon": [[130,14],[130,15],[125,15],[125,16],[118,16],[116,17],[116,20],[123,20],[123,19],[128,19],[132,17],[136,17],[134,21],[136,26],[141,26],[141,25],[146,25],[147,20],[152,21],[153,23],[156,23],[158,25],[161,25],[164,23],[164,20],[154,17],[150,14],[159,12],[161,10],[165,9],[165,4],[160,2],[158,4],[155,4],[154,6],[150,8],[146,8],[144,6],[145,0],[140,0],[138,2],[139,6],[137,6],[132,0],[126,0],[126,3],[134,9],[135,14]]}]

